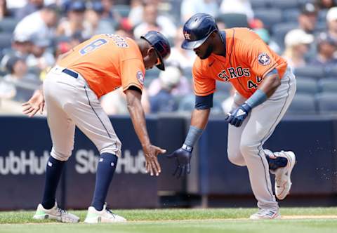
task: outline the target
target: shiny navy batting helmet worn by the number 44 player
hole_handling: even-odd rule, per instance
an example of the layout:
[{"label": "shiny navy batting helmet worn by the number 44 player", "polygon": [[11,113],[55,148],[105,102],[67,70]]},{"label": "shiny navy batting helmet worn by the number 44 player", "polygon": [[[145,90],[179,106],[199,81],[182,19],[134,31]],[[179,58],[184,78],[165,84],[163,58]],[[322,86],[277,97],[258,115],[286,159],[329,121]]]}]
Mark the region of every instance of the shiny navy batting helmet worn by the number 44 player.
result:
[{"label": "shiny navy batting helmet worn by the number 44 player", "polygon": [[212,15],[197,13],[184,25],[185,41],[181,48],[194,49],[203,44],[212,32],[218,31],[218,25]]}]

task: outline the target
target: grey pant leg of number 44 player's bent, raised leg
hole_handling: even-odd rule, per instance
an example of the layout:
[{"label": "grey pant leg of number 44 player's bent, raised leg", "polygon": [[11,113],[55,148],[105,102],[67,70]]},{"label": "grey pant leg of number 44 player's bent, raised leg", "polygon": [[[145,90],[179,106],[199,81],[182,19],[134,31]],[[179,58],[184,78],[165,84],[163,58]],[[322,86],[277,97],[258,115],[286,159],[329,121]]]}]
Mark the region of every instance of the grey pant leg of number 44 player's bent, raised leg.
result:
[{"label": "grey pant leg of number 44 player's bent, raised leg", "polygon": [[[234,94],[234,101],[232,105],[232,109],[236,109],[239,105],[242,105],[246,101],[239,93]],[[227,140],[227,155],[228,160],[232,164],[237,166],[246,166],[246,161],[244,161],[244,157],[242,156],[240,150],[240,141],[242,131],[244,131],[244,127],[246,126],[249,120],[249,116],[247,116],[246,121],[243,122],[241,127],[235,127],[231,124],[228,124],[228,140]]]}]

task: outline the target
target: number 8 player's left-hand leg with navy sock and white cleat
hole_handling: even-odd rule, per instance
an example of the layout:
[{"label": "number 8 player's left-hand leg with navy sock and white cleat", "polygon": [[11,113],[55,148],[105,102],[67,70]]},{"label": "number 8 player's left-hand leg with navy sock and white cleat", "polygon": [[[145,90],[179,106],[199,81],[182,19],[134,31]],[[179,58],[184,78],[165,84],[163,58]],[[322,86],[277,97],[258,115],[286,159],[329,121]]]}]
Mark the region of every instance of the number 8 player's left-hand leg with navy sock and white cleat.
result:
[{"label": "number 8 player's left-hand leg with navy sock and white cleat", "polygon": [[[65,97],[67,93],[58,87],[60,84],[56,84],[54,79],[55,75],[48,74],[48,78],[44,82],[47,121],[51,132],[53,148],[51,150],[51,157],[49,157],[46,164],[43,200],[41,204],[39,204],[37,213],[33,218],[48,218],[60,222],[79,222],[79,218],[76,215],[72,215],[58,208],[55,201],[56,189],[62,175],[62,170],[74,146],[75,126],[59,104],[59,101],[62,97]],[[67,86],[65,87],[67,88]]]}]

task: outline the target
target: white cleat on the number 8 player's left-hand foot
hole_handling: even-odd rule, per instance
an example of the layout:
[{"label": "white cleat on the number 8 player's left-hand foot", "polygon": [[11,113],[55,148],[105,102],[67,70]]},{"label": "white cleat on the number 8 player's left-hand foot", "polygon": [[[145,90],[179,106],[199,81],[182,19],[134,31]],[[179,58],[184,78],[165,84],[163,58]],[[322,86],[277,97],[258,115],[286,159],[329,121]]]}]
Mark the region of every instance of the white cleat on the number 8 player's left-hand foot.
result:
[{"label": "white cleat on the number 8 player's left-hand foot", "polygon": [[62,208],[58,208],[58,204],[56,202],[55,206],[49,210],[45,209],[42,204],[39,204],[39,206],[37,206],[37,212],[33,218],[37,220],[52,219],[59,222],[79,222],[79,217],[77,217],[77,215],[73,215]]}]

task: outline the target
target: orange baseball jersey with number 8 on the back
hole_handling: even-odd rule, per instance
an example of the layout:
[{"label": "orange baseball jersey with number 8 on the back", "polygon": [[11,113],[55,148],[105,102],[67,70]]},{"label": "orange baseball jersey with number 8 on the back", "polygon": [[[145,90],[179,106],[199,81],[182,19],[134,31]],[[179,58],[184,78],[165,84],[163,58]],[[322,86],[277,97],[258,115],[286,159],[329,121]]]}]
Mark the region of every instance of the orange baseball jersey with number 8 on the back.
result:
[{"label": "orange baseball jersey with number 8 on the back", "polygon": [[145,66],[136,41],[117,34],[100,34],[76,46],[58,62],[86,79],[100,98],[122,86],[143,90]]}]

